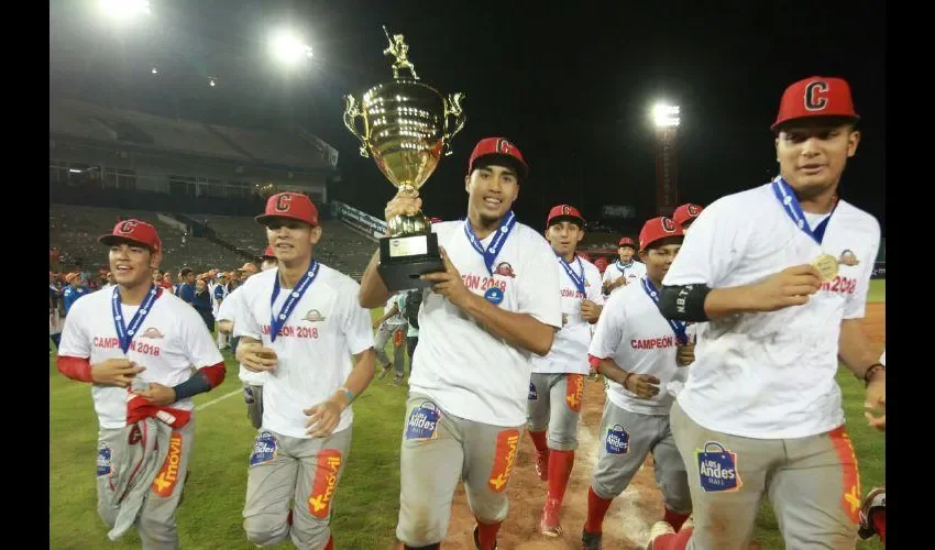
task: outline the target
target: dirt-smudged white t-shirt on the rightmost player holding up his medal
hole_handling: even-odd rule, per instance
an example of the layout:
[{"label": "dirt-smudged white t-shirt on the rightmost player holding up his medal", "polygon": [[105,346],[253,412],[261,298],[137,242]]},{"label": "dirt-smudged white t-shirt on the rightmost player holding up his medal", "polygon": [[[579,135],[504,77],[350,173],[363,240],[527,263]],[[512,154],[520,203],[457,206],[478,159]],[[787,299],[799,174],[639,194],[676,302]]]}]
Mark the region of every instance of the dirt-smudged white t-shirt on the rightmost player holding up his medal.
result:
[{"label": "dirt-smudged white t-shirt on the rightmost player holding up his medal", "polygon": [[758,439],[802,438],[843,425],[835,382],[840,321],[864,317],[879,244],[877,220],[842,200],[818,245],[792,222],[771,184],[706,208],[664,285],[759,283],[823,253],[840,265],[804,306],[700,323],[695,363],[678,397],[685,414],[710,430]]}]

